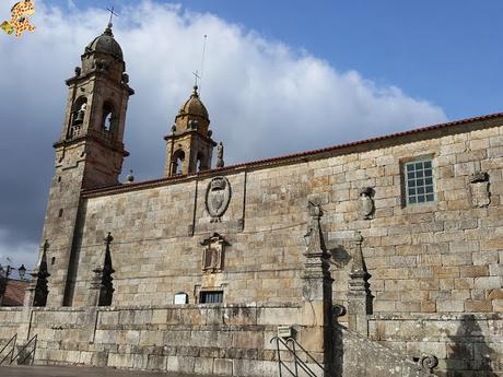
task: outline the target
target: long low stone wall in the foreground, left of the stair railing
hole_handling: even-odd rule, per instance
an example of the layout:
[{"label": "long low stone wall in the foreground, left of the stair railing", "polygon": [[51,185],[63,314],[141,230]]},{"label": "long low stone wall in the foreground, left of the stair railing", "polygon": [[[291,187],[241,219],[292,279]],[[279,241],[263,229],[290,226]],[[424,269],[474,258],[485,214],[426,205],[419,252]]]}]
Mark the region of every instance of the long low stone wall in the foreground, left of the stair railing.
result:
[{"label": "long low stone wall in the foreground, left of the stair railing", "polygon": [[[17,332],[20,345],[38,335],[38,365],[276,377],[276,343],[270,340],[280,325],[293,326],[299,340],[323,362],[316,351],[318,330],[302,318],[311,320],[301,307],[284,305],[2,308],[0,347]],[[285,352],[282,358],[291,361]]]}]

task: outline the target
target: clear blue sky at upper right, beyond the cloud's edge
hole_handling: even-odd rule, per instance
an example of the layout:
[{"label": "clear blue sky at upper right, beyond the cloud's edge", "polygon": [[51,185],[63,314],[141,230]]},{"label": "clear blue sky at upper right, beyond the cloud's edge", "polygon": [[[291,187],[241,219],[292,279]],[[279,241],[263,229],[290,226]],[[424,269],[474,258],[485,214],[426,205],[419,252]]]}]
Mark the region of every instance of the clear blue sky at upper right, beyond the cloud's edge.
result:
[{"label": "clear blue sky at upper right, beyond the cloud's edge", "polygon": [[[65,2],[65,1],[61,1]],[[115,2],[120,9],[127,1]],[[341,71],[441,106],[449,119],[501,111],[503,2],[494,0],[190,0],[267,38],[304,48]],[[74,1],[79,9],[107,7]],[[120,12],[120,11],[119,11]]]}]

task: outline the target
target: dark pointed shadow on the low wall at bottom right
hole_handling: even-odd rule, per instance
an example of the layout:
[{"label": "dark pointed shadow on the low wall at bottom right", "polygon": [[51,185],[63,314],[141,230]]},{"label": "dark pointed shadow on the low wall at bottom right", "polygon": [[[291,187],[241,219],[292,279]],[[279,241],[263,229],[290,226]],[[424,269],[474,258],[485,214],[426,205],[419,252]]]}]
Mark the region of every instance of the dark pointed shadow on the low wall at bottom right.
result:
[{"label": "dark pointed shadow on the low wall at bottom right", "polygon": [[499,377],[491,360],[498,357],[486,342],[473,315],[464,315],[456,334],[448,337],[446,377]]}]

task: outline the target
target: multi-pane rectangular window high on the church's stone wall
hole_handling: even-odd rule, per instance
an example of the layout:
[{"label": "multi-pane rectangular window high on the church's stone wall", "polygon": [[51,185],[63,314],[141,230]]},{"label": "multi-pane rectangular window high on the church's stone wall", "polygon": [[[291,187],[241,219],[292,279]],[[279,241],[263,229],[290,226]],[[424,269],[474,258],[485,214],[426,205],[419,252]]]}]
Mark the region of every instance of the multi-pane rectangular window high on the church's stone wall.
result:
[{"label": "multi-pane rectangular window high on the church's stone wall", "polygon": [[431,160],[417,160],[405,163],[403,174],[407,204],[421,204],[435,201]]}]

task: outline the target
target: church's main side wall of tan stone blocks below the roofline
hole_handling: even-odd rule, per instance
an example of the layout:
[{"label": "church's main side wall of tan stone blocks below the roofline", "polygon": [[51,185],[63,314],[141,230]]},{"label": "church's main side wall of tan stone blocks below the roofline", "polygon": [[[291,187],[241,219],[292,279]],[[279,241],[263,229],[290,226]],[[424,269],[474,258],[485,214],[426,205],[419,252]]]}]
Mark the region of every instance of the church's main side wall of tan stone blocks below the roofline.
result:
[{"label": "church's main side wall of tan stone blocks below the roofline", "polygon": [[[317,201],[326,213],[323,226],[334,257],[337,303],[346,303],[351,239],[360,231],[372,274],[374,313],[500,311],[503,134],[499,125],[491,120],[425,140],[382,142],[293,165],[231,172],[226,174],[231,202],[218,223],[210,222],[204,205],[211,177],[87,197],[73,305],[83,305],[92,270],[103,263],[107,232],[115,237],[117,305],[168,304],[177,292],[188,293],[194,303],[204,288],[223,290],[226,303],[296,301],[306,207]],[[401,165],[424,155],[433,160],[436,201],[403,205]],[[486,207],[471,202],[470,178],[477,172],[489,174]],[[359,217],[362,187],[375,191],[371,220]],[[229,246],[223,271],[204,274],[200,243],[213,232]]]}]

